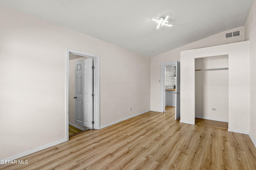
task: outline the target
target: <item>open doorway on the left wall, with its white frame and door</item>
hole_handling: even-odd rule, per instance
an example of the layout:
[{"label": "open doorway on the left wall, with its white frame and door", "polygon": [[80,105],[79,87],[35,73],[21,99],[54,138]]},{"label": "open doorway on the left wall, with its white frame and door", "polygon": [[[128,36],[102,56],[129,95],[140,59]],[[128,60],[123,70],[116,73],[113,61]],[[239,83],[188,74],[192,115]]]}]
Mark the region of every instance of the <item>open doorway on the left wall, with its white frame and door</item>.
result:
[{"label": "open doorway on the left wall, with its white frame and door", "polygon": [[[89,89],[87,94],[87,98],[90,98],[90,110],[84,104],[88,103],[88,101],[78,100],[79,98],[79,81],[77,78],[84,77],[81,80],[83,82],[87,82],[85,72],[81,75],[77,75],[75,70],[82,70],[82,67],[86,67],[89,64],[90,68],[89,76],[91,76],[92,81],[90,82],[91,86],[80,86],[80,91],[86,91],[85,88]],[[81,63],[82,62],[82,63]],[[81,67],[80,67],[81,66]],[[99,56],[92,55],[89,53],[84,53],[81,51],[76,51],[72,49],[66,50],[66,141],[70,135],[74,135],[76,133],[81,133],[82,131],[86,131],[88,129],[100,129],[100,120],[99,120]],[[76,69],[77,68],[77,69]],[[79,68],[79,69],[78,69]],[[86,81],[85,81],[86,80]],[[82,95],[81,95],[82,96]],[[87,99],[86,99],[87,100]],[[78,105],[81,104],[81,107]],[[83,120],[87,120],[85,115],[83,115],[83,111],[87,111],[84,113],[90,113],[89,115],[90,121],[79,122],[82,118]],[[90,125],[87,125],[88,123]]]}]

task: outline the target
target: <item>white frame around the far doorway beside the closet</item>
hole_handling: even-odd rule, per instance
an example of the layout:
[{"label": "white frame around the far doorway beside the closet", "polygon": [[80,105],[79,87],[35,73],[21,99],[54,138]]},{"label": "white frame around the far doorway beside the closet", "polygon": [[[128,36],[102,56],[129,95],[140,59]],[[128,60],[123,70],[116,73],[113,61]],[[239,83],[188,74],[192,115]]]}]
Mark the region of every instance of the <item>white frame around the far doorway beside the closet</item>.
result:
[{"label": "white frame around the far doorway beside the closet", "polygon": [[176,65],[176,61],[168,61],[161,63],[160,71],[160,111],[165,112],[164,99],[165,99],[165,88],[164,88],[164,68],[165,66]]}]

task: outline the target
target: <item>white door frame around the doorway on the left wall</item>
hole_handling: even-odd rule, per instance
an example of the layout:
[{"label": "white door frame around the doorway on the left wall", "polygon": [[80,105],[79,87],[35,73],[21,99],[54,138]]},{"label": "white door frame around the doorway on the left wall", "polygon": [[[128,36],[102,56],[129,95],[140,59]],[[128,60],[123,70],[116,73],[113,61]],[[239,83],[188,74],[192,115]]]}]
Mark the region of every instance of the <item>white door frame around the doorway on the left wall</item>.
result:
[{"label": "white door frame around the doorway on the left wall", "polygon": [[74,49],[66,48],[66,141],[69,140],[68,137],[68,74],[69,74],[69,54],[80,55],[82,57],[92,58],[94,61],[94,99],[93,99],[93,117],[94,117],[94,129],[100,129],[100,56],[90,53],[85,53],[82,51],[77,51]]}]

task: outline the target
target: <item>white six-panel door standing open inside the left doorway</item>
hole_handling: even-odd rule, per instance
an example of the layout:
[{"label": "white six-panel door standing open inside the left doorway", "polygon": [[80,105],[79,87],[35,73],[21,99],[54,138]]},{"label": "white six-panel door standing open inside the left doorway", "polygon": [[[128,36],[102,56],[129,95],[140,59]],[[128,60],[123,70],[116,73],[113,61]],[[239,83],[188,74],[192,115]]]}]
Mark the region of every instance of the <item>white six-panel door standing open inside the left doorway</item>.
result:
[{"label": "white six-panel door standing open inside the left doorway", "polygon": [[93,128],[93,61],[76,61],[75,64],[75,123]]}]

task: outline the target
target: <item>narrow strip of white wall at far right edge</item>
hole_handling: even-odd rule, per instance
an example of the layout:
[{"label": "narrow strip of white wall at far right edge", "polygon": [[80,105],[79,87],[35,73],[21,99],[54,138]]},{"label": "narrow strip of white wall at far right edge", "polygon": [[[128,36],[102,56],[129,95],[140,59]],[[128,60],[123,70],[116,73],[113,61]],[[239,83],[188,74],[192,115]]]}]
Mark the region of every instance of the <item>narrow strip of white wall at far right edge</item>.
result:
[{"label": "narrow strip of white wall at far right edge", "polygon": [[250,40],[250,136],[256,146],[256,1],[245,23],[246,40]]}]

